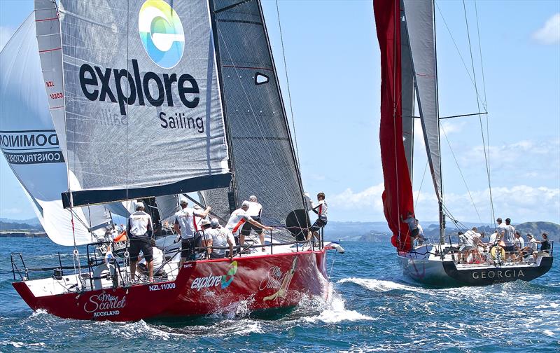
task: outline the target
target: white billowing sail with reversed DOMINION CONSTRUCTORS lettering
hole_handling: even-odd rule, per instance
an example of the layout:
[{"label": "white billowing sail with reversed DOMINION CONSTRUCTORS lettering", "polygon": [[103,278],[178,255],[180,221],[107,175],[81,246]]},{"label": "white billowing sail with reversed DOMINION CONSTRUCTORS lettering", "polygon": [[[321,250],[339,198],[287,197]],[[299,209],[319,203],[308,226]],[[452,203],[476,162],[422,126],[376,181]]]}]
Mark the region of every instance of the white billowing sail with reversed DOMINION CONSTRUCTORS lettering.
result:
[{"label": "white billowing sail with reversed DOMINION CONSTRUCTORS lettering", "polygon": [[0,147],[48,237],[61,245],[87,244],[90,220],[95,227],[106,219],[82,209],[73,209],[72,217],[62,208],[66,165],[45,97],[35,25],[31,13],[0,53]]}]

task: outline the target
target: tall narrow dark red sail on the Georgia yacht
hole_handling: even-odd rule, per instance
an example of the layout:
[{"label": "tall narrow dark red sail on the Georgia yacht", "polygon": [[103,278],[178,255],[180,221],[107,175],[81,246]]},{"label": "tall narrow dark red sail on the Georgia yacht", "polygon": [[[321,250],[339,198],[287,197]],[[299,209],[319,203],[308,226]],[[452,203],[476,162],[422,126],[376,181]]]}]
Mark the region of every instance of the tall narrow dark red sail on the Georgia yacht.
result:
[{"label": "tall narrow dark red sail on the Georgia yacht", "polygon": [[399,251],[411,249],[406,223],[407,212],[414,214],[412,184],[408,174],[405,146],[402,144],[402,106],[400,95],[400,1],[373,1],[377,40],[381,50],[381,119],[379,144],[385,179],[383,208],[393,237],[391,243]]}]

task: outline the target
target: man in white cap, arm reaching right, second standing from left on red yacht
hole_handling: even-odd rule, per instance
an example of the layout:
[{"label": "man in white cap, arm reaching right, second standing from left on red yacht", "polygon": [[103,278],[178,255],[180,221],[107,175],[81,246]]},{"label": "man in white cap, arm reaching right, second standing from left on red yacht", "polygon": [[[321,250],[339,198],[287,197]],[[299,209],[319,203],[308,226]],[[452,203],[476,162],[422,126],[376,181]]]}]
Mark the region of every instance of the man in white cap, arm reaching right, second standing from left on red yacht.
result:
[{"label": "man in white cap, arm reaching right, second standing from left on red yacht", "polygon": [[[188,201],[183,199],[179,203],[181,210],[175,214],[174,230],[181,236],[181,262],[179,268],[183,268],[183,263],[190,261],[195,254],[195,247],[200,238],[197,233],[197,217],[208,216],[212,207],[207,207],[204,211],[192,209],[188,206]],[[196,236],[195,236],[196,235]]]}]

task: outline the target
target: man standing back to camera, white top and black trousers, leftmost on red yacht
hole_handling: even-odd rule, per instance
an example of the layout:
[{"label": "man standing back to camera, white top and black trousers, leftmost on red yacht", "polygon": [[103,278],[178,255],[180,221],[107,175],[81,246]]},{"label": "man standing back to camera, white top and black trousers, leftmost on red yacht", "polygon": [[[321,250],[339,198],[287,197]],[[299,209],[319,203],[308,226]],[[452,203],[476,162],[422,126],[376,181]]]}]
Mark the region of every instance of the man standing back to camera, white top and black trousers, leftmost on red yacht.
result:
[{"label": "man standing back to camera, white top and black trousers, leftmost on red yacht", "polygon": [[127,234],[130,239],[130,278],[134,281],[136,275],[136,264],[140,251],[146,258],[146,267],[150,282],[153,282],[153,252],[149,236],[153,235],[152,218],[144,212],[144,203],[137,202],[136,212],[130,215],[127,222]]}]

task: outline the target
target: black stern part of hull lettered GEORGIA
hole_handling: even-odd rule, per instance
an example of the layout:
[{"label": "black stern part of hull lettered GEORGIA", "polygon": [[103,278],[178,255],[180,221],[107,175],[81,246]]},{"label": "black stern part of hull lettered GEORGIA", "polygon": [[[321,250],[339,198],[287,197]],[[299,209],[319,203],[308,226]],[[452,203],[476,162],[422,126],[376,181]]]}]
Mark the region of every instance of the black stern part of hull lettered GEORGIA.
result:
[{"label": "black stern part of hull lettered GEORGIA", "polygon": [[453,261],[444,261],[447,275],[462,285],[485,286],[494,283],[531,281],[544,275],[552,267],[552,256],[542,257],[538,266],[515,266],[513,268],[465,268],[459,270]]}]

